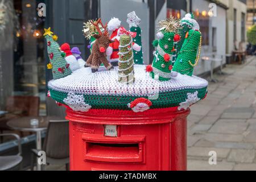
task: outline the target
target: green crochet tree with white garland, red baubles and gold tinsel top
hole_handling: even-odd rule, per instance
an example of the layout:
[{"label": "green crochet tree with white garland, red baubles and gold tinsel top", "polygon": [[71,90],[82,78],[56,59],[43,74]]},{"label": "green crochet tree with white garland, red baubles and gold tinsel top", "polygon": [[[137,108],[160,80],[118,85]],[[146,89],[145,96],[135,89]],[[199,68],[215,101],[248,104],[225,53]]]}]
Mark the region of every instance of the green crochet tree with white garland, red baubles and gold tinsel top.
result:
[{"label": "green crochet tree with white garland, red baubles and gold tinsel top", "polygon": [[172,77],[172,65],[176,57],[176,46],[180,36],[176,34],[180,26],[176,19],[170,18],[159,22],[160,31],[156,36],[159,40],[154,40],[153,46],[157,47],[152,69],[147,69],[150,76],[160,81],[170,80]]}]

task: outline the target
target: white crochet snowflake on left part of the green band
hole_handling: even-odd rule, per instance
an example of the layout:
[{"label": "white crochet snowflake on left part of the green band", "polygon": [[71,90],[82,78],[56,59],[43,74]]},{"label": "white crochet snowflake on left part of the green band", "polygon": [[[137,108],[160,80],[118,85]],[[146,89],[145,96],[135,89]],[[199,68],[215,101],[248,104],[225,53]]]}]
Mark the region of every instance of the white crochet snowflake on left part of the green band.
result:
[{"label": "white crochet snowflake on left part of the green band", "polygon": [[76,95],[73,92],[69,92],[68,97],[65,98],[63,102],[71,107],[71,109],[74,111],[87,112],[90,108],[92,108],[92,106],[84,102],[84,96]]}]

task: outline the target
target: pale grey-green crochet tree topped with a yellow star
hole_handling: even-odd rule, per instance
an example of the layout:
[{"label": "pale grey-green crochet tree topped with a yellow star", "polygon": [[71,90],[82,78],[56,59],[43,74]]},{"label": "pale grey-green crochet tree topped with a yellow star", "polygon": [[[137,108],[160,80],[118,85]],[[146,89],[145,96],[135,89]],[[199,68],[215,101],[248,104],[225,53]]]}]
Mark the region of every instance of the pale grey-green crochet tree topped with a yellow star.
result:
[{"label": "pale grey-green crochet tree topped with a yellow star", "polygon": [[44,28],[44,36],[47,40],[47,52],[49,56],[48,69],[52,69],[53,79],[59,79],[71,75],[69,64],[64,59],[65,53],[61,51],[57,41],[57,36],[52,35],[51,28]]}]

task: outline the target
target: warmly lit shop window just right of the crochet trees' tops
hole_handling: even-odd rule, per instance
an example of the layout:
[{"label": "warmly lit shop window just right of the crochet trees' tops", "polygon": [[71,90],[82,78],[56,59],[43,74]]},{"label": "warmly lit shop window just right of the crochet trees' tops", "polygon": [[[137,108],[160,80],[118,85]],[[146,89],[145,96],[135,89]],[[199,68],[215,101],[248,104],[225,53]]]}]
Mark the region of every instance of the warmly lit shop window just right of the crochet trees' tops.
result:
[{"label": "warmly lit shop window just right of the crochet trees' tops", "polygon": [[200,24],[200,31],[202,35],[202,46],[209,46],[209,15],[207,11],[199,12],[196,10],[193,12],[196,21]]}]

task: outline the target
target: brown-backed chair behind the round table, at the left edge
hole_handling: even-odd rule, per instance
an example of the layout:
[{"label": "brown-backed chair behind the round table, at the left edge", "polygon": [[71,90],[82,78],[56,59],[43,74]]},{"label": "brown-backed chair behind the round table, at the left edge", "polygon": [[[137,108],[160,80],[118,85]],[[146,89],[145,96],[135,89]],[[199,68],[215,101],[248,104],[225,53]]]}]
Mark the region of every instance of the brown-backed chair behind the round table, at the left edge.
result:
[{"label": "brown-backed chair behind the round table, at the left edge", "polygon": [[[34,96],[11,96],[6,101],[6,114],[0,118],[0,133],[4,130],[11,130],[6,123],[10,119],[19,117],[37,117],[39,115],[40,98]],[[23,135],[21,133],[21,135]],[[2,137],[1,137],[2,142]]]}]

